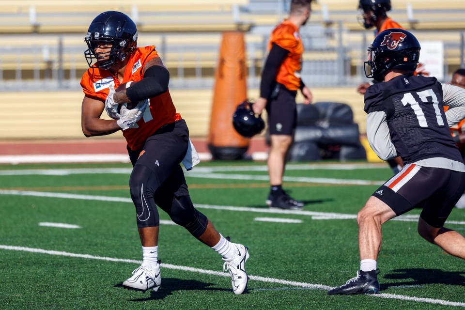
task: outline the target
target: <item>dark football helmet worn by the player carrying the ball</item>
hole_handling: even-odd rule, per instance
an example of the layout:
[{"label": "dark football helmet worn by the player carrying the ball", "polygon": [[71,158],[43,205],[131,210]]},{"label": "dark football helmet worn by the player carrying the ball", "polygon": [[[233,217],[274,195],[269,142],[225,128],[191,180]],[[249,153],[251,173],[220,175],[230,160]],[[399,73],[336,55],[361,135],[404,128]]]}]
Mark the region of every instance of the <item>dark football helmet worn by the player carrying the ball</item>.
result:
[{"label": "dark football helmet worn by the player carrying the ball", "polygon": [[[108,69],[113,64],[123,61],[137,47],[137,27],[129,16],[116,11],[107,11],[95,17],[89,26],[85,42],[89,49],[84,52],[87,64]],[[109,52],[95,53],[97,42],[112,44]],[[99,61],[101,57],[109,56],[108,60]]]}]

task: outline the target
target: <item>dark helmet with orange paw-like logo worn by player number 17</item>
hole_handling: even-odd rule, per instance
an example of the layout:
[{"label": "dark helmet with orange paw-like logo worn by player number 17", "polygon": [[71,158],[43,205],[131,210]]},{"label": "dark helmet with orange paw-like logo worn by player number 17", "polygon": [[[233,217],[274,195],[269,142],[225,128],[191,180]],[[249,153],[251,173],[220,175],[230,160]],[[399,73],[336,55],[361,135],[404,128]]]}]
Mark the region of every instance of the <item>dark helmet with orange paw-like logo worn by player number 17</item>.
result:
[{"label": "dark helmet with orange paw-like logo worn by player number 17", "polygon": [[365,75],[382,81],[390,69],[415,71],[419,57],[420,44],[412,33],[399,28],[388,29],[379,33],[368,47]]}]

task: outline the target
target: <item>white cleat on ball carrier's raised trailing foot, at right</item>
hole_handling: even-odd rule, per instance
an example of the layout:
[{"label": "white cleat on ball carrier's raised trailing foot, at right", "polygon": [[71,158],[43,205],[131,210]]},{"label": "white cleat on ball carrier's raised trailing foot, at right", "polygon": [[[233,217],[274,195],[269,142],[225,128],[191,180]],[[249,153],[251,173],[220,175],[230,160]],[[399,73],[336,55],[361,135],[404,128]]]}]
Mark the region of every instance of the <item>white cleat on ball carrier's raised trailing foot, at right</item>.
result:
[{"label": "white cleat on ball carrier's raised trailing foot, at right", "polygon": [[233,284],[233,292],[239,295],[247,288],[248,276],[245,266],[250,255],[248,254],[248,248],[241,244],[233,243],[232,247],[237,248],[237,252],[230,260],[223,258],[225,262],[223,264],[223,271],[229,271],[231,284]]}]

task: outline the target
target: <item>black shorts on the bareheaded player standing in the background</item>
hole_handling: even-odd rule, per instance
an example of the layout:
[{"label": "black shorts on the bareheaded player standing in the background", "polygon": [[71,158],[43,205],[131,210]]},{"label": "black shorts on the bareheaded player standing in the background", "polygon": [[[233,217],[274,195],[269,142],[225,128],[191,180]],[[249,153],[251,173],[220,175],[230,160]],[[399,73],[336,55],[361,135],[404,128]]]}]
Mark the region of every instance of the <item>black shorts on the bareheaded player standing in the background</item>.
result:
[{"label": "black shorts on the bareheaded player standing in the background", "polygon": [[272,95],[266,104],[268,113],[268,130],[271,135],[294,135],[297,124],[297,105],[295,95],[282,84],[277,84],[279,91]]}]

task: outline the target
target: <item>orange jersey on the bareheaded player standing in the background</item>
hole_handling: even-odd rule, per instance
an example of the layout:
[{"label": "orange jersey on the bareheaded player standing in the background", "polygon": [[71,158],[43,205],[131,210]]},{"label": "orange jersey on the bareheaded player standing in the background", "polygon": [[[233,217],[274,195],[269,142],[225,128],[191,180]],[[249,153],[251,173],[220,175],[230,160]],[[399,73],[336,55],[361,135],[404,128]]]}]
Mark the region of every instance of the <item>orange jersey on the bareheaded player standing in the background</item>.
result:
[{"label": "orange jersey on the bareheaded player standing in the background", "polygon": [[298,27],[290,21],[283,21],[271,33],[268,50],[271,49],[273,43],[289,51],[288,56],[279,67],[276,81],[291,91],[298,90],[304,52]]}]

